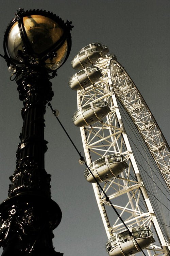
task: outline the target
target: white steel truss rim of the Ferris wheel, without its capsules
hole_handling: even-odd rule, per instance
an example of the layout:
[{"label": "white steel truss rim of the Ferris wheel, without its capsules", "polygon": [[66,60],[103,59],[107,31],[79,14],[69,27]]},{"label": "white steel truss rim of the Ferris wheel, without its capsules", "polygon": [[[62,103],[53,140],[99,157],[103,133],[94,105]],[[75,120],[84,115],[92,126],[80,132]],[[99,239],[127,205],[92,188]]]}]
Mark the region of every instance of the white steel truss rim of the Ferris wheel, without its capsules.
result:
[{"label": "white steel truss rim of the Ferris wheel, without its capsules", "polygon": [[[86,90],[78,91],[78,109],[82,105],[103,99],[109,103],[111,112],[102,123],[80,128],[86,162],[89,165],[100,157],[114,153],[125,156],[128,168],[115,179],[101,182],[102,189],[129,228],[145,225],[152,231],[155,230],[157,239],[155,244],[147,248],[149,256],[169,255],[167,241],[159,227],[125,132],[116,96],[134,119],[157,165],[161,167],[164,179],[169,184],[168,149],[167,144],[161,144],[166,141],[134,83],[116,59],[113,56],[100,58],[95,66],[101,69],[103,76]],[[110,238],[113,233],[125,227],[119,217],[115,217],[113,209],[97,183],[92,185],[107,237]]]}]

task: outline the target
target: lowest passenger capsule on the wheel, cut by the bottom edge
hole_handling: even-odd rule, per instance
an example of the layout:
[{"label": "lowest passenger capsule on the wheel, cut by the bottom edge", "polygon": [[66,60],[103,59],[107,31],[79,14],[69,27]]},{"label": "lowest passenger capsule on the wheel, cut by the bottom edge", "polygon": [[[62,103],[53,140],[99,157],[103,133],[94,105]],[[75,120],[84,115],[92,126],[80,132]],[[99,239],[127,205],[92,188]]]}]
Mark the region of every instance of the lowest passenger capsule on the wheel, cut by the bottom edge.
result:
[{"label": "lowest passenger capsule on the wheel, cut by the bottom edge", "polygon": [[155,242],[153,232],[147,226],[134,227],[131,232],[132,236],[128,230],[121,231],[107,241],[106,251],[109,256],[132,255]]}]

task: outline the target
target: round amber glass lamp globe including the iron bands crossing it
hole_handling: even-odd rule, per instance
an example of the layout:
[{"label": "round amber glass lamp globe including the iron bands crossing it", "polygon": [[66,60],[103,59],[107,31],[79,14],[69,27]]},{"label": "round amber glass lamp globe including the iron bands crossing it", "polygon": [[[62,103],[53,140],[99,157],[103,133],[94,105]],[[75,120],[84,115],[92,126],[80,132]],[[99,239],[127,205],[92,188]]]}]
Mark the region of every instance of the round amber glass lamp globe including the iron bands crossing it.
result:
[{"label": "round amber glass lamp globe including the iron bands crossing it", "polygon": [[29,59],[37,64],[43,63],[50,72],[59,68],[65,61],[71,37],[59,17],[53,14],[50,16],[50,13],[46,12],[42,14],[38,11],[32,11],[31,15],[26,12],[19,17],[20,22],[18,18],[14,18],[6,31],[6,49],[10,59],[18,67],[24,65],[24,60],[19,54],[23,53],[27,55],[27,61]]}]

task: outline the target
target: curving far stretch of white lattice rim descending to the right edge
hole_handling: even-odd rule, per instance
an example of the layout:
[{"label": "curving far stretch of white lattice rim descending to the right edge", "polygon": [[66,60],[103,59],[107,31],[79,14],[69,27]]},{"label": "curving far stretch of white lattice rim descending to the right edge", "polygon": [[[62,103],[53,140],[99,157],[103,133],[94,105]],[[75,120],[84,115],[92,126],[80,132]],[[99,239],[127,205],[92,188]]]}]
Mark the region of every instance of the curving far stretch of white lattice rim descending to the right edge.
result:
[{"label": "curving far stretch of white lattice rim descending to the right edge", "polygon": [[137,126],[170,188],[170,148],[130,76],[116,60],[110,63],[114,91]]}]

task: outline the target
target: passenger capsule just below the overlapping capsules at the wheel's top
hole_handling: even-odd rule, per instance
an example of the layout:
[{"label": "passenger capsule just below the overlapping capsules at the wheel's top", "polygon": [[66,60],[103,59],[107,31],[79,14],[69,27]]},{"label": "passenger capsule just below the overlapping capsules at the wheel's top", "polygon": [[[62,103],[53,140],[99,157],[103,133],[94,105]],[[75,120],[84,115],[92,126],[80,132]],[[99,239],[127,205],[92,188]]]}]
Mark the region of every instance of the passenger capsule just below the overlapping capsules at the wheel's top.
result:
[{"label": "passenger capsule just below the overlapping capsules at the wheel's top", "polygon": [[96,83],[99,78],[102,76],[102,73],[97,67],[85,68],[75,75],[73,75],[69,80],[69,86],[73,90],[85,89],[88,86]]}]

